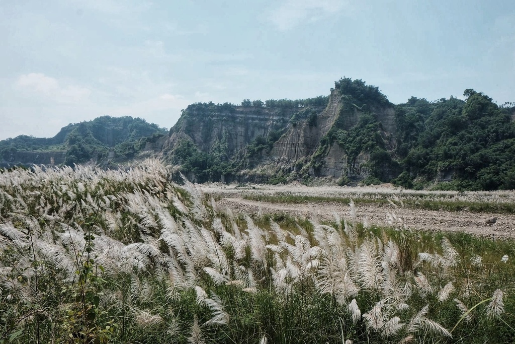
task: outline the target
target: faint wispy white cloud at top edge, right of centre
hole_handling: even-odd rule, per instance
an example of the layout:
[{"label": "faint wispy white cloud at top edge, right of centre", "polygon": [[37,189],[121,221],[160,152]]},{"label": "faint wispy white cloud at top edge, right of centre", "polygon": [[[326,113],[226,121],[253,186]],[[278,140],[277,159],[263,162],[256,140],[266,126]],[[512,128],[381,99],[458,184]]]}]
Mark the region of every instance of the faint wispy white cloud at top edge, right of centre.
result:
[{"label": "faint wispy white cloud at top edge, right of centre", "polygon": [[314,22],[340,12],[344,0],[285,0],[272,11],[270,20],[281,31],[291,29],[302,21]]}]

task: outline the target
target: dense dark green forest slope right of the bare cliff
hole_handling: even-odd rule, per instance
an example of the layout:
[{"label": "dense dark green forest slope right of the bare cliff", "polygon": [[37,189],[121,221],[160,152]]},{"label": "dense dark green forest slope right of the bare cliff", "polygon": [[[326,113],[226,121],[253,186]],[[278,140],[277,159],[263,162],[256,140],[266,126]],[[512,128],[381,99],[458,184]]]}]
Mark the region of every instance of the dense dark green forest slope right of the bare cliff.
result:
[{"label": "dense dark green forest slope right of the bare cliff", "polygon": [[412,97],[396,107],[396,154],[404,169],[396,183],[421,187],[447,175],[452,181],[441,188],[515,188],[515,108],[471,89],[464,95],[466,101],[432,103]]}]

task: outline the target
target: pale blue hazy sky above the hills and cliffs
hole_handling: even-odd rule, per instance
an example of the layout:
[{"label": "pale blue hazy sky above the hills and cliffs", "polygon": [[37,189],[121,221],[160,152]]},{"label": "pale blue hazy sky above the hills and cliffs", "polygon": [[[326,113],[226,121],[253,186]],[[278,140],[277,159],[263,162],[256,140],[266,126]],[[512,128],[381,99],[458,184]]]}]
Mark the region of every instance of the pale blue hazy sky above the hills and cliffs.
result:
[{"label": "pale blue hazy sky above the hills and cliffs", "polygon": [[0,139],[196,102],[329,95],[515,101],[512,0],[0,0]]}]

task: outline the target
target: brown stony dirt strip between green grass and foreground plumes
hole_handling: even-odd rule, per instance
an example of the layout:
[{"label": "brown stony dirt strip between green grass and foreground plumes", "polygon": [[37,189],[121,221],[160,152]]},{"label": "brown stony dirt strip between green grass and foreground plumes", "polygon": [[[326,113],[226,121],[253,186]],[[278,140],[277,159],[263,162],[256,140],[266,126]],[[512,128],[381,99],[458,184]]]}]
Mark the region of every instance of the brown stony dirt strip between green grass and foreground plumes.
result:
[{"label": "brown stony dirt strip between green grass and foreground plumes", "polygon": [[[318,217],[321,220],[332,220],[336,213],[341,218],[351,218],[350,206],[341,203],[313,202],[305,204],[278,204],[243,199],[241,195],[220,194],[219,206],[229,207],[235,212],[247,214],[267,214],[284,212],[299,218]],[[406,225],[408,228],[424,231],[458,231],[479,236],[510,237],[515,238],[515,215],[511,214],[485,214],[467,211],[432,211],[394,207],[385,204],[358,204],[356,205],[356,218],[358,221],[368,221],[370,224],[391,224],[392,215],[398,218],[393,220],[397,225]],[[497,222],[493,225],[485,223],[485,219],[495,216]],[[399,219],[400,218],[400,219]]]}]

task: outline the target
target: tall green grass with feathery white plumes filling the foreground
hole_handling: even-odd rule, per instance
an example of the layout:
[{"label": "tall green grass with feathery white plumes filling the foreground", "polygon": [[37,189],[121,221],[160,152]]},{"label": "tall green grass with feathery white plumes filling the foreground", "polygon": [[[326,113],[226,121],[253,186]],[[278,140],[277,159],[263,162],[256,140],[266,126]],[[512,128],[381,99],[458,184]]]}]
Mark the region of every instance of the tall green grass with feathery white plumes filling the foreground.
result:
[{"label": "tall green grass with feathery white plumes filling the foreground", "polygon": [[0,342],[515,336],[511,241],[234,215],[170,175],[156,160],[0,174]]}]

